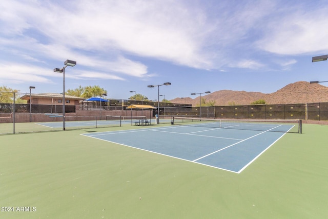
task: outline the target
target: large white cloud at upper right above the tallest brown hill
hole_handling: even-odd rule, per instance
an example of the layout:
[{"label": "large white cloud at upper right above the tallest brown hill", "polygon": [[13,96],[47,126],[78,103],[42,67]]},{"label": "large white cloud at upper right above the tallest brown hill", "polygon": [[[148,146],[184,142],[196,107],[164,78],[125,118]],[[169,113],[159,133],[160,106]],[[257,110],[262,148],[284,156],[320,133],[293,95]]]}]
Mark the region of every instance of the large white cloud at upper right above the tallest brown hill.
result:
[{"label": "large white cloud at upper right above the tallest brown hill", "polygon": [[[264,27],[265,35],[257,46],[271,53],[296,55],[328,50],[328,7],[309,10],[295,6],[284,9]],[[279,14],[278,14],[279,15]]]}]

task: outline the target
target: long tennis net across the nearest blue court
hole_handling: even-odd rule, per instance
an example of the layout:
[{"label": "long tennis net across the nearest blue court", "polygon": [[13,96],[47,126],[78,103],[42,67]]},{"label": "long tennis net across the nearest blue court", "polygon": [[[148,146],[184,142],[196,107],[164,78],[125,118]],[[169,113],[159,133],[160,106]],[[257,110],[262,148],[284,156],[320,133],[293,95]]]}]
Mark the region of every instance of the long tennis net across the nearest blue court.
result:
[{"label": "long tennis net across the nearest blue court", "polygon": [[302,133],[301,120],[223,120],[174,116],[172,117],[171,124],[206,128]]}]

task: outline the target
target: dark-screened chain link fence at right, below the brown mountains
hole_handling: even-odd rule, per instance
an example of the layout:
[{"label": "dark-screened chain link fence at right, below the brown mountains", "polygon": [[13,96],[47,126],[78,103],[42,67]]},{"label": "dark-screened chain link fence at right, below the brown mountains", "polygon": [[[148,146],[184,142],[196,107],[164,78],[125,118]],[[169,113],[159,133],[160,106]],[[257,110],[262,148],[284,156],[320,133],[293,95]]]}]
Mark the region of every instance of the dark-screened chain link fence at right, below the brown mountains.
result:
[{"label": "dark-screened chain link fence at right, below the brown mountains", "polygon": [[328,120],[328,103],[159,108],[161,116],[259,120]]}]

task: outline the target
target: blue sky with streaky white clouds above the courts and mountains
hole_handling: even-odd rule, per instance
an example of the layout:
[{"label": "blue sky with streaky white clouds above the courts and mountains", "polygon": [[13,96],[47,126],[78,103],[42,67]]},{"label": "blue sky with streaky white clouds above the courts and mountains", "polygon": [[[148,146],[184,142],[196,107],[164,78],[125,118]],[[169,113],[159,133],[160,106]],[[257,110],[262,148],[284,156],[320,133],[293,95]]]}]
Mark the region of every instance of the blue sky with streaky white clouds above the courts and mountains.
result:
[{"label": "blue sky with streaky white clouds above the courts and mountains", "polygon": [[[327,1],[2,0],[0,86],[29,93],[98,85],[157,99],[236,90],[272,93],[328,81]],[[327,86],[326,84],[322,84]]]}]

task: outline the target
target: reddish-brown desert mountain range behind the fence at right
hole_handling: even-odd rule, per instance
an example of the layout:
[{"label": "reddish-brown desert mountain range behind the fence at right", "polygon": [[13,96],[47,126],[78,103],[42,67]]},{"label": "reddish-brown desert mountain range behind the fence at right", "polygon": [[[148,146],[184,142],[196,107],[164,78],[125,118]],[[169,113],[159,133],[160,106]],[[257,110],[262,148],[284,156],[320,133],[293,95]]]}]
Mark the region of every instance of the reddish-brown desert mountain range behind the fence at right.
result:
[{"label": "reddish-brown desert mountain range behind the fence at right", "polygon": [[[266,104],[301,104],[328,102],[328,87],[320,84],[311,84],[309,82],[295,82],[289,84],[280,90],[265,94],[261,92],[246,92],[233,90],[220,90],[202,95],[201,98],[206,101],[215,101],[216,106],[228,105],[250,105],[252,102],[264,99]],[[172,103],[199,105],[199,95],[192,99],[175,98]]]}]

